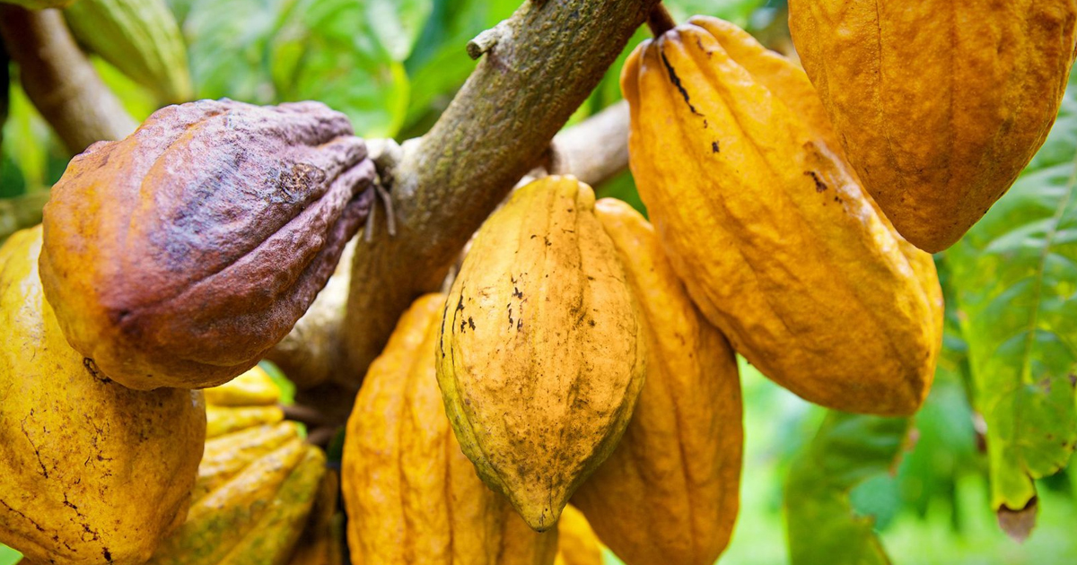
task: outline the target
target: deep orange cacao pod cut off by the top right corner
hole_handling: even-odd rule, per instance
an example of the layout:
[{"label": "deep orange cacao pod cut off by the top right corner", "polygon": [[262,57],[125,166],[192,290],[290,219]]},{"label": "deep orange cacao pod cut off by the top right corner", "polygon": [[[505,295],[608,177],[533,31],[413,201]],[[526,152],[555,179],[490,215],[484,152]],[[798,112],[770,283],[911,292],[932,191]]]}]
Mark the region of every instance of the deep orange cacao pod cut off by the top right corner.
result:
[{"label": "deep orange cacao pod cut off by the top right corner", "polygon": [[789,0],[805,70],[864,187],[941,251],[1044,143],[1073,62],[1075,0]]}]

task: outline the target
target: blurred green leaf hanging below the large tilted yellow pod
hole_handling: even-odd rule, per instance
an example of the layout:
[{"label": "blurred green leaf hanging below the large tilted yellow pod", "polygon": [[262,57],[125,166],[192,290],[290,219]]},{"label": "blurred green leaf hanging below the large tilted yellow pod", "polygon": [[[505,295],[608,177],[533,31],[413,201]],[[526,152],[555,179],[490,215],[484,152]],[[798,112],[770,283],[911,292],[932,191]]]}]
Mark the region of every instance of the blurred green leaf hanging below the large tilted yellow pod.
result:
[{"label": "blurred green leaf hanging below the large tilted yellow pod", "polygon": [[890,563],[872,531],[873,520],[853,514],[850,492],[895,467],[909,422],[827,412],[789,469],[785,514],[792,565]]}]

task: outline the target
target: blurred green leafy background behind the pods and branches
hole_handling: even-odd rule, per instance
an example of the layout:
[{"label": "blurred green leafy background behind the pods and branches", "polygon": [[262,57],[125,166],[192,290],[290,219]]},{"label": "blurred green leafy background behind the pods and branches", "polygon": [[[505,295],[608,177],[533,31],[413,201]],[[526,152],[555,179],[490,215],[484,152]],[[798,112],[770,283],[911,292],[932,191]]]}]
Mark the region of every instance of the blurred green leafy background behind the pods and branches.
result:
[{"label": "blurred green leafy background behind the pods and branches", "polygon": [[[475,66],[466,42],[520,2],[168,1],[187,44],[197,98],[321,100],[347,113],[360,136],[401,141],[426,131],[466,80]],[[677,20],[716,15],[789,51],[783,0],[665,3]],[[625,57],[648,37],[645,29],[633,37],[570,125],[620,99]],[[104,61],[94,63],[137,119],[156,109],[151,93]],[[0,238],[16,216],[40,213],[70,158],[18,87],[18,69],[10,70]],[[1072,90],[1017,185],[962,242],[936,256],[947,296],[946,337],[931,396],[915,416],[828,412],[742,363],[741,513],[721,563],[1075,562],[1074,471],[1059,470],[1077,435]],[[628,172],[598,188],[642,208]],[[994,508],[1020,508],[1033,495],[1036,527],[1018,542],[999,527]],[[0,565],[16,560],[0,547]]]}]

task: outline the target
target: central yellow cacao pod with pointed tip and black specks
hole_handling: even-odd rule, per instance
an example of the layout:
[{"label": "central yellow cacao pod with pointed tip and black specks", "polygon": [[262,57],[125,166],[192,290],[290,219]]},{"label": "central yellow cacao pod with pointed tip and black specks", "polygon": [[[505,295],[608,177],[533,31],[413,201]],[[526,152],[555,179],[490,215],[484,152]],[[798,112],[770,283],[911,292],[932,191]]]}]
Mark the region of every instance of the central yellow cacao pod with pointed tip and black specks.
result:
[{"label": "central yellow cacao pod with pointed tip and black specks", "polygon": [[437,380],[479,477],[536,531],[628,425],[646,357],[637,316],[595,193],[575,178],[516,190],[464,258]]}]

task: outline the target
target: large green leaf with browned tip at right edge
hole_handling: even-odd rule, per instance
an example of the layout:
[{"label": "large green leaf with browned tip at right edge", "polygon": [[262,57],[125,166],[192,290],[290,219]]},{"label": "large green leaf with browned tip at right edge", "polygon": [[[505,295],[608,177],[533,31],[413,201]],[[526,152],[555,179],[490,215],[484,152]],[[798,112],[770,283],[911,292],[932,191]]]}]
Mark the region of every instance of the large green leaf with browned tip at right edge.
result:
[{"label": "large green leaf with browned tip at right edge", "polygon": [[[1073,79],[1073,76],[1072,76]],[[946,253],[975,406],[987,422],[991,503],[1021,510],[1077,442],[1077,88],[1010,190]]]}]

